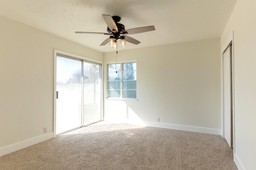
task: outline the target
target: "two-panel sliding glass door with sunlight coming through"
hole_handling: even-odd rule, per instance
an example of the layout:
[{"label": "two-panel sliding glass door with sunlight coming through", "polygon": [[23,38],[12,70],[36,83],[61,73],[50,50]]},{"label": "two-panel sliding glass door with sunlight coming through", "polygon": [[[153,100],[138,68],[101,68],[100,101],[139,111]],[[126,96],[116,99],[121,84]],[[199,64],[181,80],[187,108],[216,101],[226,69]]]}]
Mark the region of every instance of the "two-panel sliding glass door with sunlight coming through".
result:
[{"label": "two-panel sliding glass door with sunlight coming through", "polygon": [[101,64],[56,57],[56,134],[101,120]]}]

